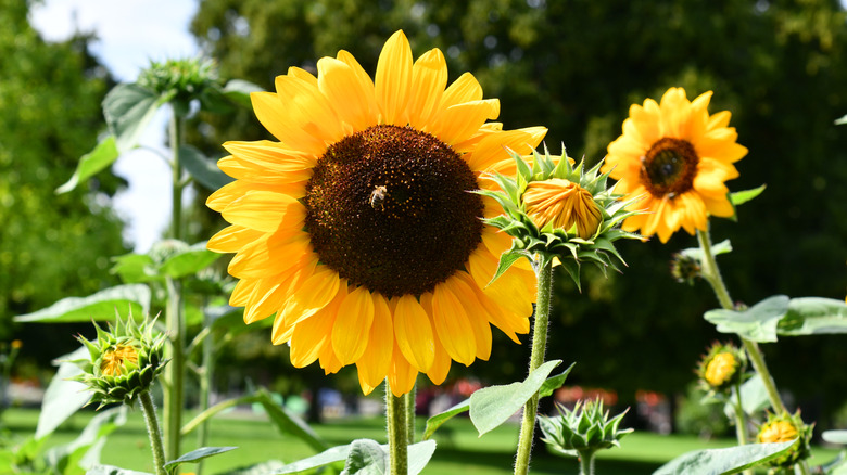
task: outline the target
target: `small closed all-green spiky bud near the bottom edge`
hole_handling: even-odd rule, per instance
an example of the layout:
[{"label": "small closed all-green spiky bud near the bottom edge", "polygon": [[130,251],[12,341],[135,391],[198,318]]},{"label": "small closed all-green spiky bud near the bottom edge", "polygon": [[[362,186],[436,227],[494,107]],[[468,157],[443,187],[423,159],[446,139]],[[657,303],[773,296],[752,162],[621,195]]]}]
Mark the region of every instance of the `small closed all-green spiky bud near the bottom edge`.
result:
[{"label": "small closed all-green spiky bud near the bottom edge", "polygon": [[592,457],[602,449],[620,447],[620,439],[633,429],[619,429],[627,411],[609,419],[603,410],[603,400],[577,401],[573,410],[557,406],[557,418],[540,418],[542,440],[556,452],[572,457]]}]

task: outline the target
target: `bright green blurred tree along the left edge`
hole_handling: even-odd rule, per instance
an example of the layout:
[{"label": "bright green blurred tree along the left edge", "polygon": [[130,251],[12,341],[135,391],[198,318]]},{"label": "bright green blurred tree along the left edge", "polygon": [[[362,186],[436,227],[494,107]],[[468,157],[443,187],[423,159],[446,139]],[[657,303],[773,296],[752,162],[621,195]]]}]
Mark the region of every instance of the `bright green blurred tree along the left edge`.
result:
[{"label": "bright green blurred tree along the left edge", "polygon": [[0,0],[0,339],[15,332],[47,363],[78,346],[71,331],[13,325],[12,317],[116,283],[109,256],[126,248],[110,207],[121,179],[53,192],[97,143],[111,78],[88,52],[90,37],[43,41],[29,4]]}]

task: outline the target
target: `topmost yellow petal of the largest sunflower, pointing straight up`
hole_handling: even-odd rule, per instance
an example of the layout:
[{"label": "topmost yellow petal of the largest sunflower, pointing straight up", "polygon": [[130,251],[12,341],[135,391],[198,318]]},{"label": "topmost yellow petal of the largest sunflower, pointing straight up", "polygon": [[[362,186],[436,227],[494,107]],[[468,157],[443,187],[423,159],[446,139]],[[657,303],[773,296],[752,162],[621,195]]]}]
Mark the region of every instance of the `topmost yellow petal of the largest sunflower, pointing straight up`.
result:
[{"label": "topmost yellow petal of the largest sunflower, pointing straight up", "polygon": [[377,62],[377,106],[382,124],[406,125],[406,103],[412,81],[412,48],[403,30],[391,35]]}]

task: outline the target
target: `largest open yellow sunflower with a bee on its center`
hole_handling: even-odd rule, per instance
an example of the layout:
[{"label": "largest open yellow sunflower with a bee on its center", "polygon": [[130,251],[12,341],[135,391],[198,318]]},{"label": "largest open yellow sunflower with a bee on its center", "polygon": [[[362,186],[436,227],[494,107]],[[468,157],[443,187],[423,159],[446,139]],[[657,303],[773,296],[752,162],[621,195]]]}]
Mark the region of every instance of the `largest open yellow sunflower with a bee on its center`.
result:
[{"label": "largest open yellow sunflower with a bee on its center", "polygon": [[252,94],[279,142],[224,144],[218,166],[236,181],[207,205],[231,226],[208,248],[236,253],[230,304],[246,323],[275,314],[273,342],[298,368],[355,363],[365,394],[388,377],[400,396],[418,372],[440,384],[452,361],[488,359],[490,324],[518,342],[534,279],[515,268],[486,286],[510,239],[482,224],[496,203],[470,191],[546,129],[486,123],[500,102],[470,74],[446,87],[438,49],[413,63],[403,31],[375,80],[346,51],[317,73],[292,67],[276,92]]}]

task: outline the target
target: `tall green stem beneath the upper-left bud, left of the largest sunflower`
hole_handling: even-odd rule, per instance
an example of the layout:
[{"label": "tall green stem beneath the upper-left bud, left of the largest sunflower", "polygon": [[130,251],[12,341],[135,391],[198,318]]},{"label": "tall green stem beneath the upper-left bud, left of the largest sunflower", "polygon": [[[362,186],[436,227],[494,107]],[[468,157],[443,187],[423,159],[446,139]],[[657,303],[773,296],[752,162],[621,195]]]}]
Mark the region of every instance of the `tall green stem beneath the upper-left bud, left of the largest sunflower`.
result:
[{"label": "tall green stem beneath the upper-left bud, left of the largest sunflower", "polygon": [[[172,107],[173,116],[169,125],[169,142],[172,152],[173,169],[173,204],[170,236],[175,240],[181,239],[182,233],[182,188],[181,176],[182,167],[179,163],[179,144],[182,142],[182,119]],[[179,458],[179,429],[182,425],[182,405],[185,388],[185,368],[186,368],[186,324],[182,314],[182,288],[178,280],[167,278],[165,281],[167,288],[167,306],[165,308],[165,323],[168,332],[169,345],[166,346],[165,357],[170,360],[170,364],[165,368],[164,386],[164,419],[165,419],[165,447],[168,460]]]}]

